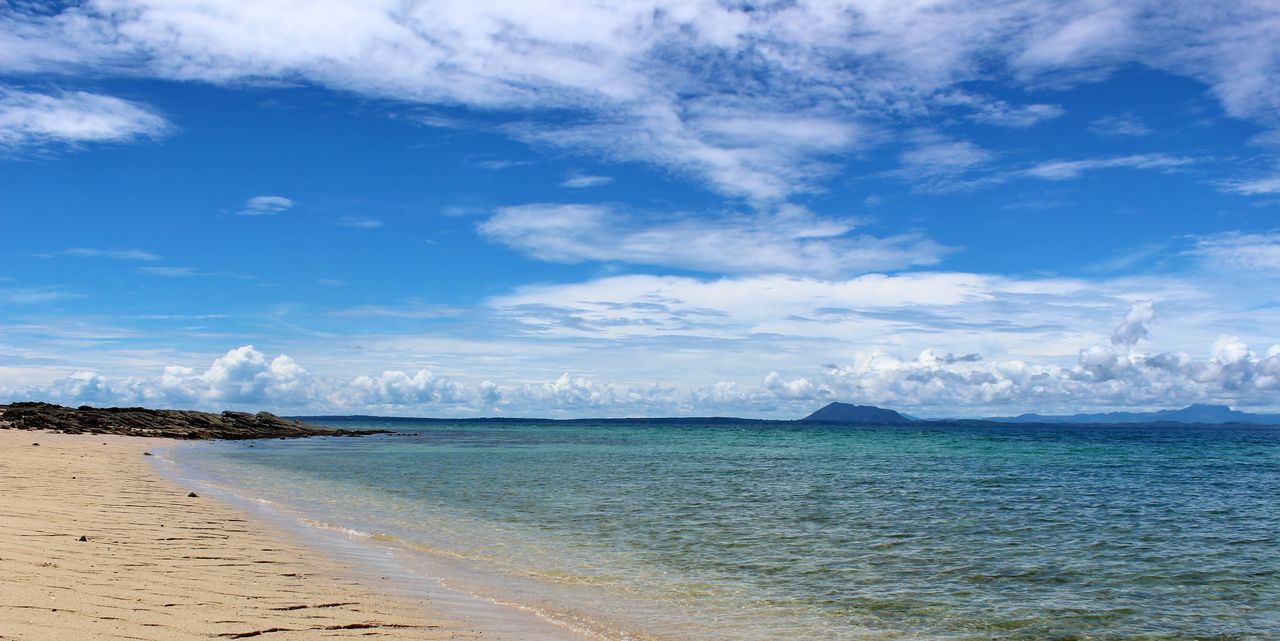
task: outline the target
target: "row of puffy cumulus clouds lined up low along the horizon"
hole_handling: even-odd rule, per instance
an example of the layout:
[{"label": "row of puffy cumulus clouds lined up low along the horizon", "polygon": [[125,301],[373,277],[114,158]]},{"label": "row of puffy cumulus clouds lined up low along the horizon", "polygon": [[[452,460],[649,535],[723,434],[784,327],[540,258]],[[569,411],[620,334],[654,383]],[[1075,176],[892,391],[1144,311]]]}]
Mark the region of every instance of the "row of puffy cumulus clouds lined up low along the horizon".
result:
[{"label": "row of puffy cumulus clouds lined up low along the horizon", "polygon": [[829,400],[893,407],[932,416],[992,416],[1034,409],[1178,407],[1219,402],[1275,407],[1280,344],[1257,354],[1235,336],[1220,336],[1197,360],[1187,353],[1117,353],[1093,344],[1074,365],[955,357],[924,349],[900,358],[867,349],[812,376],[769,371],[755,384],[722,380],[687,390],[600,383],[562,374],[545,383],[463,384],[428,370],[385,371],[352,380],[316,379],[287,356],[268,360],[250,345],[229,351],[209,370],[168,366],[151,379],[110,379],[76,371],[49,385],[0,390],[6,398],[69,404],[150,404],[246,409],[389,411],[475,416],[773,415],[800,417]]}]

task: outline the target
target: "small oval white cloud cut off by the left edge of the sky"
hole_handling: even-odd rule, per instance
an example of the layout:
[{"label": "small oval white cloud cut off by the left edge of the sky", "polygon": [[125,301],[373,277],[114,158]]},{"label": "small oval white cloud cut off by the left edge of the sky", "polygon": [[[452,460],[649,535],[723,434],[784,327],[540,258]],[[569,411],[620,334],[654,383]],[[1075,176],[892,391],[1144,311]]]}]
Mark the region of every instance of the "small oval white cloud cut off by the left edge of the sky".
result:
[{"label": "small oval white cloud cut off by the left edge of the sky", "polygon": [[147,106],[113,96],[0,86],[0,148],[154,139],[172,129]]}]

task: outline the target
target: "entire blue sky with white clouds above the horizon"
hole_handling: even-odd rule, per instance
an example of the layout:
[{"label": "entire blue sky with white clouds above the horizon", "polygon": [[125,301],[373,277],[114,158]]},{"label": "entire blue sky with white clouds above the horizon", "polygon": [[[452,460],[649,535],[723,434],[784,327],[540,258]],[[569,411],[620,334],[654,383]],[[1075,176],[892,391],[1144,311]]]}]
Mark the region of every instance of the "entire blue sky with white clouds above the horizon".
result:
[{"label": "entire blue sky with white clouds above the horizon", "polygon": [[31,399],[1280,411],[1280,4],[12,1]]}]

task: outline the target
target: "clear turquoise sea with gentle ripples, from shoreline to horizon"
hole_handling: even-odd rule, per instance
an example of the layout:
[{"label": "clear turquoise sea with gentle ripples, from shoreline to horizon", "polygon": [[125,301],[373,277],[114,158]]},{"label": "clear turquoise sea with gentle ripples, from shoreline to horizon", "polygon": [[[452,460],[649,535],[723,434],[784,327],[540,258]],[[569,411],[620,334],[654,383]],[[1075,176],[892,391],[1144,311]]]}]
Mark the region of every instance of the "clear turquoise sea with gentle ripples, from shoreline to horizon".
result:
[{"label": "clear turquoise sea with gentle ripples, from shoreline to horizon", "polygon": [[600,638],[1280,638],[1277,429],[384,427],[177,454]]}]

